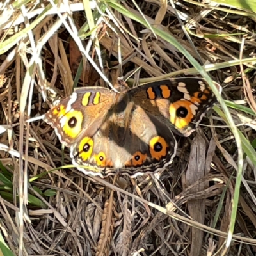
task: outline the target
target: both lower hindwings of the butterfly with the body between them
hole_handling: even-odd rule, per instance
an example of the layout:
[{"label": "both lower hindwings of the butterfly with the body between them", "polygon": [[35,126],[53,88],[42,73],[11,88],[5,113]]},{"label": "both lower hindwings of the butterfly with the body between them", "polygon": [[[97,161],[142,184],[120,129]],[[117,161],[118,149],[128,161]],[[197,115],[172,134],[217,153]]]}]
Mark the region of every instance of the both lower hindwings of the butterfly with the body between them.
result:
[{"label": "both lower hindwings of the butterfly with the body between them", "polygon": [[70,149],[73,163],[85,174],[122,172],[136,177],[163,170],[175,156],[177,143],[170,127],[129,98],[95,122]]}]

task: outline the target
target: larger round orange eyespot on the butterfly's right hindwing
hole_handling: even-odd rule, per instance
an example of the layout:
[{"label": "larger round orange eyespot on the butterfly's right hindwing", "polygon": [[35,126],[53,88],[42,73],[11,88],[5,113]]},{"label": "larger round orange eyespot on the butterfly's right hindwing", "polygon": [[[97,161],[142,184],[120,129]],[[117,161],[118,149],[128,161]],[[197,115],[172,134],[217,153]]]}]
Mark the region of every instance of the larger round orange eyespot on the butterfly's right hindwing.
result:
[{"label": "larger round orange eyespot on the butterfly's right hindwing", "polygon": [[167,154],[168,145],[163,137],[153,137],[149,142],[150,154],[153,158],[160,160]]}]

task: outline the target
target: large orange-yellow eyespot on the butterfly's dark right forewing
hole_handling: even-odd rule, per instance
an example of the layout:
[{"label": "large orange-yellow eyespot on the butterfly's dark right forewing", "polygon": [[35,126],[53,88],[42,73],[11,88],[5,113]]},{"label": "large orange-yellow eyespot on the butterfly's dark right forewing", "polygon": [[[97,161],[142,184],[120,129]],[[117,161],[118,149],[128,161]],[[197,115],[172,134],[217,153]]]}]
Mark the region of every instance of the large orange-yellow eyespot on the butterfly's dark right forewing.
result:
[{"label": "large orange-yellow eyespot on the butterfly's dark right forewing", "polygon": [[191,122],[198,108],[188,100],[179,100],[170,104],[170,122],[178,129],[182,129]]}]

